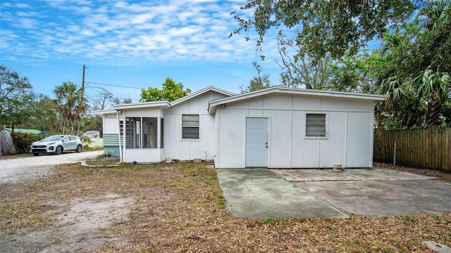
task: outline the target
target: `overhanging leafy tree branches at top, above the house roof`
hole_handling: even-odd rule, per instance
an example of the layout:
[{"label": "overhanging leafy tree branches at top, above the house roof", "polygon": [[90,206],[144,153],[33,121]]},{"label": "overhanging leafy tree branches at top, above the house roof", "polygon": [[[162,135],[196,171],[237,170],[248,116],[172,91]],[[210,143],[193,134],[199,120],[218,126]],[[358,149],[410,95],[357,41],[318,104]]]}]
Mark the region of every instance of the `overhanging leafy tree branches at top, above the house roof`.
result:
[{"label": "overhanging leafy tree branches at top, above the house roof", "polygon": [[[259,35],[257,50],[261,50],[267,33],[291,33],[300,55],[318,59],[330,53],[338,59],[346,52],[357,53],[367,41],[409,19],[415,8],[409,0],[249,0],[242,11],[232,13],[240,27],[230,36],[248,34],[254,28]],[[253,12],[250,19],[247,10]]]}]

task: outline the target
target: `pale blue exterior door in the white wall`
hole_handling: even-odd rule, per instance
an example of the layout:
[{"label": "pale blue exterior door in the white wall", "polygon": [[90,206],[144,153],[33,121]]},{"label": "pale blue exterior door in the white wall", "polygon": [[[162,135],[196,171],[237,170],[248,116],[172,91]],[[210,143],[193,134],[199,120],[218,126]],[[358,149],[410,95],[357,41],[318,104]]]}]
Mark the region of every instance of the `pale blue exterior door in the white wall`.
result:
[{"label": "pale blue exterior door in the white wall", "polygon": [[246,167],[268,167],[267,118],[246,118]]}]

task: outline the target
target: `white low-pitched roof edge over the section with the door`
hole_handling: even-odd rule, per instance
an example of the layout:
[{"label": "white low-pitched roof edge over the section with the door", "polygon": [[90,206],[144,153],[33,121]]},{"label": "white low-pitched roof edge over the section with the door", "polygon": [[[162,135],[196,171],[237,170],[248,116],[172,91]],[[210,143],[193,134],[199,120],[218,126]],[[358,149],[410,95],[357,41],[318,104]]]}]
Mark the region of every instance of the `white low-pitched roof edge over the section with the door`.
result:
[{"label": "white low-pitched roof edge over the section with the door", "polygon": [[214,113],[218,105],[224,105],[226,103],[233,103],[240,100],[245,100],[249,98],[255,98],[258,96],[264,96],[271,93],[281,93],[290,95],[305,95],[305,96],[316,96],[316,97],[328,97],[328,98],[352,98],[361,100],[373,100],[373,101],[383,101],[385,96],[375,95],[375,94],[363,94],[363,93],[349,93],[349,92],[338,92],[338,91],[320,91],[313,89],[295,89],[287,88],[283,86],[273,86],[266,89],[261,89],[258,91],[251,91],[248,93],[242,93],[235,96],[230,96],[228,98],[221,98],[217,100],[212,100],[209,102],[209,112]]}]

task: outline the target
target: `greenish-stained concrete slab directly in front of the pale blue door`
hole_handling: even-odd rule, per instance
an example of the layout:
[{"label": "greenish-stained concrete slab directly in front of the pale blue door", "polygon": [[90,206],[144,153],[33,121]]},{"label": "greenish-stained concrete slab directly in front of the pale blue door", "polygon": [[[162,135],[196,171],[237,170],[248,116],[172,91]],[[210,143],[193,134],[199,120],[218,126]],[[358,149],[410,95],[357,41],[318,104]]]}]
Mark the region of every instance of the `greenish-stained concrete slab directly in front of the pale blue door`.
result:
[{"label": "greenish-stained concrete slab directly in front of the pale blue door", "polygon": [[268,169],[217,169],[218,181],[233,216],[347,218],[335,207],[293,186]]}]

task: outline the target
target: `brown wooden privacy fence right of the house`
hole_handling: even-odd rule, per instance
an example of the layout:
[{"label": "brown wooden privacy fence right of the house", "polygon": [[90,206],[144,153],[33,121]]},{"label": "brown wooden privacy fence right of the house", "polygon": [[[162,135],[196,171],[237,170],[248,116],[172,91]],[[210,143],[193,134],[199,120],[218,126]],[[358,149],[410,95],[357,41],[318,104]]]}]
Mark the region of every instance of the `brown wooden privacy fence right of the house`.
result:
[{"label": "brown wooden privacy fence right of the house", "polygon": [[451,129],[374,131],[373,160],[451,173]]}]

